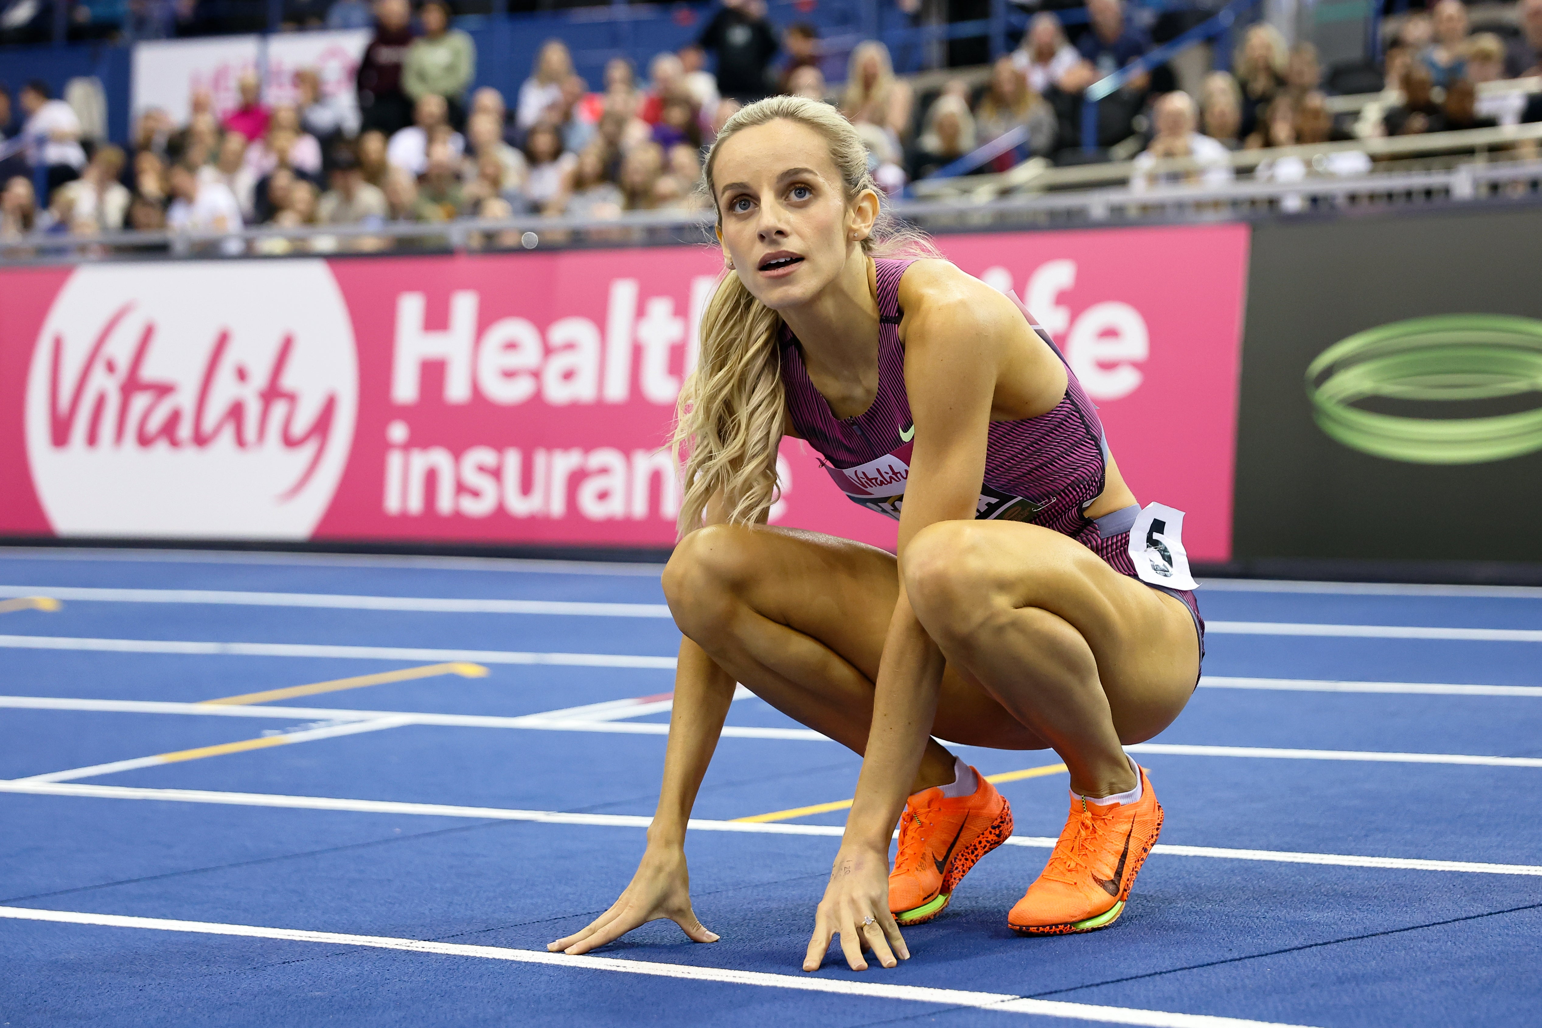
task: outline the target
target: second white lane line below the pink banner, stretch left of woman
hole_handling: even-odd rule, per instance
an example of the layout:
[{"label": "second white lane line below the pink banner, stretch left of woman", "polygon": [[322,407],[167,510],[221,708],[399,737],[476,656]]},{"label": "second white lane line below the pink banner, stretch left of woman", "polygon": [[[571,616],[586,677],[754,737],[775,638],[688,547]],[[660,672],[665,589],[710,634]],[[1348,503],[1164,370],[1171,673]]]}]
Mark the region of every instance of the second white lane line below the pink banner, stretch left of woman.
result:
[{"label": "second white lane line below the pink banner, stretch left of woman", "polygon": [[219,589],[80,589],[0,586],[0,596],[49,596],[88,603],[191,603],[244,607],[321,607],[333,610],[412,610],[418,613],[558,613],[591,618],[669,618],[662,603],[577,603],[566,600],[461,600],[432,596],[350,596],[310,592],[228,592]]}]

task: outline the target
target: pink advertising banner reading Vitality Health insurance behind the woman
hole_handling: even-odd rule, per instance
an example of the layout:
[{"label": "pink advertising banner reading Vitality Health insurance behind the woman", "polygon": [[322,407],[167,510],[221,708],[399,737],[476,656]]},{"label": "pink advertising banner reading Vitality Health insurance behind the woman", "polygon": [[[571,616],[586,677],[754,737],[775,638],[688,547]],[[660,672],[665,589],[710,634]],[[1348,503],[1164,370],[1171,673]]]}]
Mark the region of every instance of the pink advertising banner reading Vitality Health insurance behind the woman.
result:
[{"label": "pink advertising banner reading Vitality Health insurance behind the woman", "polygon": [[[1231,555],[1247,228],[944,236]],[[666,547],[706,248],[0,271],[0,535]],[[776,524],[891,547],[806,444]]]}]

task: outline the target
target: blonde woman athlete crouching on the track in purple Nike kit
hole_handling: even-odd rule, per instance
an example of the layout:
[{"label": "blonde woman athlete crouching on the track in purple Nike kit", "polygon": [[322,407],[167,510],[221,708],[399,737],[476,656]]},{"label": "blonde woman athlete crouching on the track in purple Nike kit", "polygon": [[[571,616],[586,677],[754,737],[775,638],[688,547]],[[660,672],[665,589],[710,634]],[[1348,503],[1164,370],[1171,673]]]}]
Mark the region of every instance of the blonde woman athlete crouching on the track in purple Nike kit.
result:
[{"label": "blonde woman athlete crouching on the track in purple Nike kit", "polygon": [[[1005,798],[933,735],[1059,754],[1070,820],[1007,922],[1112,923],[1163,818],[1121,746],[1187,703],[1203,623],[1192,592],[1136,578],[1140,509],[1092,402],[1013,299],[941,259],[880,256],[930,248],[880,217],[833,108],[746,106],[703,177],[728,274],[680,401],[685,538],[663,586],[686,638],[663,791],[631,885],[549,949],[588,952],[660,917],[717,939],[691,909],[683,840],[736,681],[864,755],[805,971],[836,932],[856,969],[864,949],[907,959],[897,925],[934,917],[1012,834]],[[783,435],[899,516],[897,559],[765,524]],[[1169,556],[1175,532],[1141,518]],[[1181,559],[1156,564],[1192,587]]]}]

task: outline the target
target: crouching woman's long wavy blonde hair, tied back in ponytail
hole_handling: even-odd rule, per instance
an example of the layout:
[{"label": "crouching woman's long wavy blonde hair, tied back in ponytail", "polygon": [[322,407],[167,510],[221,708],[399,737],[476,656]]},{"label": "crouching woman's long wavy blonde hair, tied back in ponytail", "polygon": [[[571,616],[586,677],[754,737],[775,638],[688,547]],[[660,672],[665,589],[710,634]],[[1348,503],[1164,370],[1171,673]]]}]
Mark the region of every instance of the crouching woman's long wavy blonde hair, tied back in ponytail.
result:
[{"label": "crouching woman's long wavy blonde hair, tied back in ponytail", "polygon": [[[712,142],[699,190],[714,210],[712,168],[723,142],[776,120],[803,125],[825,139],[848,203],[867,191],[882,197],[868,174],[867,148],[847,119],[828,103],[777,96],[742,108]],[[717,220],[722,227],[722,211]],[[882,207],[860,247],[867,256],[938,256],[924,233],[896,223]],[[672,445],[677,461],[685,456],[682,536],[702,526],[714,495],[722,495],[732,524],[759,521],[776,499],[776,452],[786,424],[780,334],[782,316],[757,301],[737,273],[725,271],[702,311],[700,356],[675,412]]]}]

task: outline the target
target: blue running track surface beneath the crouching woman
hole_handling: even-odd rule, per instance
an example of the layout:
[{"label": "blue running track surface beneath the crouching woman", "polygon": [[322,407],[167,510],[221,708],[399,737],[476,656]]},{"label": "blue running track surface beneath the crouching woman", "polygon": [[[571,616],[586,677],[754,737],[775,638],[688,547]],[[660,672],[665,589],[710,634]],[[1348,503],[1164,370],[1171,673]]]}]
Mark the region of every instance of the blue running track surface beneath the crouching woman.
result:
[{"label": "blue running track surface beneath the crouching woman", "polygon": [[[236,555],[0,553],[0,584],[662,603],[655,572],[520,563]],[[1215,621],[1542,629],[1542,590],[1355,595],[1203,590]],[[1451,590],[1446,590],[1449,593]],[[307,643],[671,657],[666,618],[416,613],[68,600],[0,613],[0,635]],[[0,640],[3,641],[3,640]],[[187,655],[0,646],[0,694],[197,703],[429,661]],[[1212,635],[1206,674],[1323,681],[1542,686],[1542,641]],[[668,692],[672,672],[487,664],[274,700],[270,706],[520,717]],[[0,780],[293,732],[330,718],[248,718],[0,706]],[[89,704],[77,704],[86,706]],[[100,703],[97,703],[100,706]],[[625,724],[660,724],[649,714]],[[799,727],[759,700],[729,724]],[[1411,695],[1201,687],[1156,743],[1542,757],[1542,695]],[[665,737],[407,724],[180,760],[79,786],[332,797],[515,811],[648,815]],[[962,747],[984,774],[1052,754]],[[1490,865],[1542,865],[1542,768],[1146,754],[1166,845]],[[695,815],[732,820],[851,795],[859,760],[830,741],[725,738]],[[1055,835],[1064,775],[1001,786],[1019,835]],[[544,951],[629,879],[635,825],[532,823],[455,812],[288,809],[0,789],[6,1025],[879,1025],[1052,1023],[927,999],[776,983],[617,974],[561,963],[111,926],[102,915],[307,929]],[[786,825],[840,825],[843,812]],[[722,934],[668,923],[598,951],[621,960],[799,976],[833,835],[697,831],[695,909]],[[1155,854],[1110,929],[1018,939],[1005,911],[1047,851],[1004,846],[913,960],[831,982],[967,989],[1173,1014],[1320,1025],[1534,1025],[1542,1010],[1542,875]],[[1534,868],[1536,869],[1536,868]],[[94,919],[94,922],[93,922]],[[665,968],[668,969],[668,968]],[[1089,1011],[1093,1013],[1093,1011]],[[1062,1020],[1056,1023],[1092,1023]],[[1200,1022],[1178,1020],[1180,1028]]]}]

